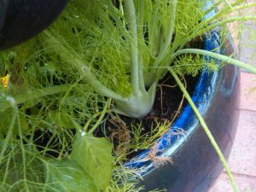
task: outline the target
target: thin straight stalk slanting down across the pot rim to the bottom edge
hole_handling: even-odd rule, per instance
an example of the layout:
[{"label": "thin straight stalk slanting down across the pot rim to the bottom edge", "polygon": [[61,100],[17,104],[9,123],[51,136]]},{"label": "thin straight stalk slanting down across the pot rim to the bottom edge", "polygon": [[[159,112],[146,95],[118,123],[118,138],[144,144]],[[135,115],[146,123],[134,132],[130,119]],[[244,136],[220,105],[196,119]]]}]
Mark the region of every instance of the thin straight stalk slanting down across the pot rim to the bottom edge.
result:
[{"label": "thin straight stalk slanting down across the pot rim to the bottom edge", "polygon": [[189,105],[191,106],[191,108],[193,109],[197,119],[200,122],[201,127],[203,128],[203,130],[206,132],[207,137],[209,138],[210,142],[212,143],[212,147],[215,149],[216,153],[218,154],[219,160],[222,162],[224,169],[226,170],[228,176],[230,177],[230,183],[233,186],[233,189],[238,192],[238,188],[235,182],[235,179],[230,171],[230,167],[228,166],[227,161],[224,158],[224,155],[222,154],[220,148],[218,148],[218,143],[216,143],[214,137],[212,136],[211,131],[209,130],[209,128],[207,127],[206,122],[204,121],[204,119],[202,118],[201,114],[199,113],[198,109],[195,106],[195,103],[192,101],[191,97],[189,96],[188,91],[186,90],[186,88],[183,86],[183,83],[180,81],[180,79],[177,77],[177,74],[172,70],[172,67],[168,67],[168,70],[170,71],[170,73],[172,73],[173,78],[176,80],[179,88],[183,91],[183,94],[185,96],[185,98],[188,100]]}]

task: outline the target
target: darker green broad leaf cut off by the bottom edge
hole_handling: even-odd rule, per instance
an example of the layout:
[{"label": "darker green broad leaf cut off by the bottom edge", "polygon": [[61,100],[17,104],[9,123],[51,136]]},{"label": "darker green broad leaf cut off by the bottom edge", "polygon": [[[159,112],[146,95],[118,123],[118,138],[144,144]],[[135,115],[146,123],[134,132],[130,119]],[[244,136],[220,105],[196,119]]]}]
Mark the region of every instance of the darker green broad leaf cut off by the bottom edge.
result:
[{"label": "darker green broad leaf cut off by the bottom edge", "polygon": [[49,160],[45,167],[49,191],[97,192],[93,179],[75,160]]}]

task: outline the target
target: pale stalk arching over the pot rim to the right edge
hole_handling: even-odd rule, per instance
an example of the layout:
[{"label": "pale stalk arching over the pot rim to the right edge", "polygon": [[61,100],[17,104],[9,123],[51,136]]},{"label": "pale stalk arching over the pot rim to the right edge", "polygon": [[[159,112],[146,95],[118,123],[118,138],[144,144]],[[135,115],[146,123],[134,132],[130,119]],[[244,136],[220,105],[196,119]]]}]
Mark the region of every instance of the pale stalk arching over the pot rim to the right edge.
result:
[{"label": "pale stalk arching over the pot rim to the right edge", "polygon": [[177,50],[175,54],[172,55],[172,61],[178,56],[178,55],[183,55],[183,54],[198,54],[198,55],[207,55],[212,58],[218,59],[220,61],[224,61],[226,63],[230,63],[236,67],[241,67],[243,69],[246,69],[247,71],[251,73],[256,73],[256,67],[253,67],[251,65],[248,65],[245,62],[238,61],[236,59],[231,58],[230,56],[226,55],[220,55],[217,53],[213,53],[211,51],[207,50],[202,50],[202,49],[181,49]]}]

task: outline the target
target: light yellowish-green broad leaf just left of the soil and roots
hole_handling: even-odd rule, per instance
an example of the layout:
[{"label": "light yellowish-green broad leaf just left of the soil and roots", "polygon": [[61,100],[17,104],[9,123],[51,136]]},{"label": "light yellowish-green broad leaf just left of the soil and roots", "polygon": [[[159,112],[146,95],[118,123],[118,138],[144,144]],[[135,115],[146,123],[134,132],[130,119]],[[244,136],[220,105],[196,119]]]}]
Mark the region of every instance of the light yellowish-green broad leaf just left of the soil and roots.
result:
[{"label": "light yellowish-green broad leaf just left of the soil and roots", "polygon": [[94,179],[98,190],[104,190],[112,178],[112,145],[106,138],[77,133],[71,159],[76,160]]}]

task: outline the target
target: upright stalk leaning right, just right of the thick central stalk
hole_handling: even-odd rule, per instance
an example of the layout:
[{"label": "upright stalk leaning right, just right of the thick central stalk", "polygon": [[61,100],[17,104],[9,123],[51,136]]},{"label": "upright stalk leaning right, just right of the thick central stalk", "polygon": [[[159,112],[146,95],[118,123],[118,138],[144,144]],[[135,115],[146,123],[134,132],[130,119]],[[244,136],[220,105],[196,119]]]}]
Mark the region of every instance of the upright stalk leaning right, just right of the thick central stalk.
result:
[{"label": "upright stalk leaning right, just right of the thick central stalk", "polygon": [[172,9],[172,14],[170,15],[170,28],[169,31],[167,33],[167,37],[166,41],[164,42],[164,44],[162,44],[160,46],[160,53],[159,55],[157,55],[156,60],[154,61],[153,66],[154,67],[158,67],[160,62],[164,59],[165,55],[166,55],[166,50],[168,49],[169,46],[171,46],[172,43],[172,33],[174,30],[174,23],[175,23],[175,16],[176,16],[176,7],[177,7],[177,0],[172,0],[172,5],[171,9]]}]

